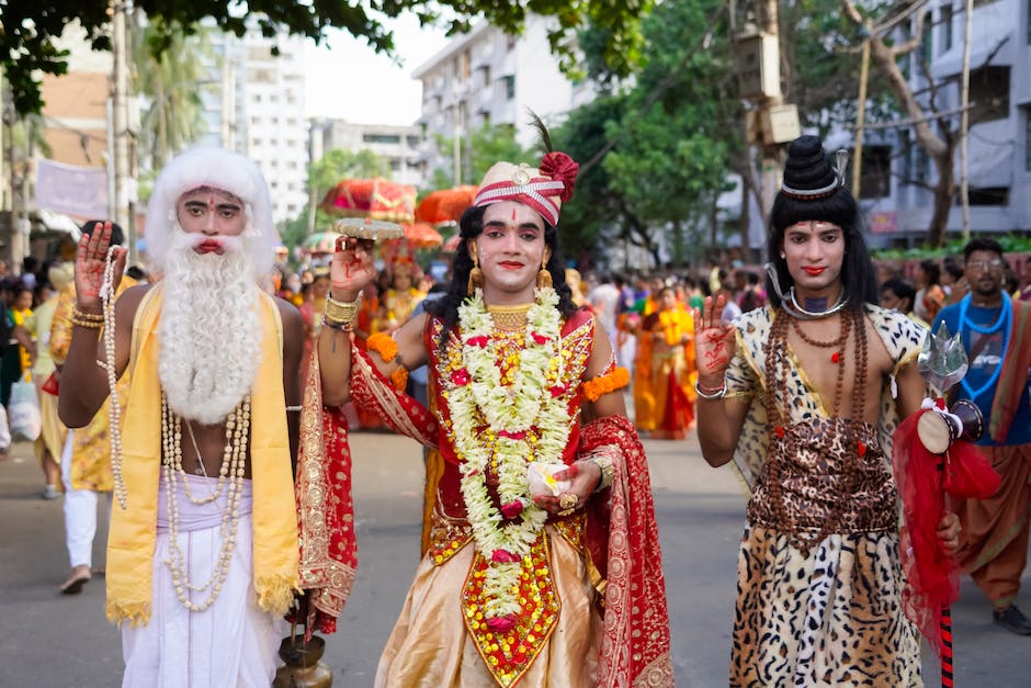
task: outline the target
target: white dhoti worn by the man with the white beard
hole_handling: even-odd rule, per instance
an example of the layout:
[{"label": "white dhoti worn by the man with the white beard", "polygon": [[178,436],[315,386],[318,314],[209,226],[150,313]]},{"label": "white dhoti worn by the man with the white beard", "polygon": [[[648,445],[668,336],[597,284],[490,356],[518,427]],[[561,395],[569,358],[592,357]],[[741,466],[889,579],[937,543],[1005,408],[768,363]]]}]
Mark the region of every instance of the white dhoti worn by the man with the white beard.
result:
[{"label": "white dhoti worn by the man with the white beard", "polygon": [[[193,495],[211,494],[215,478],[188,476]],[[175,595],[169,559],[167,489],[161,482],[158,534],[154,556],[152,611],[147,625],[122,624],[126,688],[268,688],[275,676],[276,651],[285,622],[258,606],[251,565],[251,485],[245,481],[233,562],[215,602],[190,611]],[[225,494],[194,505],[179,494],[179,545],[191,585],[202,586],[215,573],[222,550]],[[200,605],[211,588],[191,591]]]}]

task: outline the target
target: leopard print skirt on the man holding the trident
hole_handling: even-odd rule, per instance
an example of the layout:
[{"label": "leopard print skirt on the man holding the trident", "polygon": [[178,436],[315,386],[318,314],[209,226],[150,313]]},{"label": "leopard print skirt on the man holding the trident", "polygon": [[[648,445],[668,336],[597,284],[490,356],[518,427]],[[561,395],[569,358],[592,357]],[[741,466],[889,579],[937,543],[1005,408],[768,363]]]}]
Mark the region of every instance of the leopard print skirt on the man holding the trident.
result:
[{"label": "leopard print skirt on the man holding the trident", "polygon": [[806,556],[788,535],[749,525],[729,685],[922,686],[900,593],[894,532],[831,534]]}]

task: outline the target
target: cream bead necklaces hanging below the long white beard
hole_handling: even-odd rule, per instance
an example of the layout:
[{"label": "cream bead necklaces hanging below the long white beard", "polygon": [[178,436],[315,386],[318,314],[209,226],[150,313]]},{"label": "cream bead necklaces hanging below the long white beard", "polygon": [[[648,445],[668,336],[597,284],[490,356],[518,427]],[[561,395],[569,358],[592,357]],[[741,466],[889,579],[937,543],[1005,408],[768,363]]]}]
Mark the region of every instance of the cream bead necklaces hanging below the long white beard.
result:
[{"label": "cream bead necklaces hanging below the long white beard", "polygon": [[[169,407],[165,395],[161,395],[161,445],[162,471],[168,488],[168,541],[169,559],[166,561],[172,574],[172,586],[175,596],[183,607],[190,611],[204,611],[218,598],[222,586],[229,573],[233,563],[233,552],[236,549],[236,533],[240,521],[240,499],[243,494],[243,472],[247,456],[248,436],[250,430],[250,396],[226,419],[226,450],[223,454],[223,464],[219,469],[218,487],[209,497],[194,499],[190,493],[189,481],[182,467],[182,431],[181,419]],[[199,458],[200,460],[200,458]],[[218,561],[212,567],[212,575],[204,585],[190,583],[186,569],[185,555],[179,544],[179,501],[178,482],[182,478],[184,492],[191,503],[201,505],[213,501],[225,489],[226,507],[222,517],[222,549]],[[201,604],[194,604],[188,594],[211,588],[207,598]]]}]

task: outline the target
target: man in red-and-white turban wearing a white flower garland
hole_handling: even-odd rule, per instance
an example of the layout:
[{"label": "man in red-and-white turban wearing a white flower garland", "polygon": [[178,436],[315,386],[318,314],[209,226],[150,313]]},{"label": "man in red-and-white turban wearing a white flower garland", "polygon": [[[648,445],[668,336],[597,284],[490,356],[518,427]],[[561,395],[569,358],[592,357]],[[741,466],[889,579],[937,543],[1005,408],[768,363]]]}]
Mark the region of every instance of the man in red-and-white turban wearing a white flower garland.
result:
[{"label": "man in red-and-white turban wearing a white flower garland", "polygon": [[[324,402],[353,398],[440,450],[424,556],[376,686],[672,685],[648,471],[620,393],[630,375],[574,304],[558,250],[576,173],[562,153],[490,168],[449,292],[370,337],[367,356],[349,332],[371,252],[349,239],[333,256]],[[396,391],[423,364],[435,417]]]}]

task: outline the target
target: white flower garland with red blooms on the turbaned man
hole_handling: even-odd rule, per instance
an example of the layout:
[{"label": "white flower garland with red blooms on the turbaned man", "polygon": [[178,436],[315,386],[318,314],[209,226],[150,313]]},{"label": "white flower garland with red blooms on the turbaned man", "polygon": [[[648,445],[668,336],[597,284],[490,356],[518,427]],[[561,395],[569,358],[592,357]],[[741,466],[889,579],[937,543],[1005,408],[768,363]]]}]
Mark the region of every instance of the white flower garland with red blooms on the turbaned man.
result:
[{"label": "white flower garland with red blooms on the turbaned man", "polygon": [[[530,553],[547,520],[547,511],[530,499],[526,467],[530,461],[562,464],[573,421],[568,414],[573,390],[560,386],[558,295],[553,289],[541,289],[534,296],[512,385],[501,384],[501,352],[491,337],[494,318],[480,290],[458,308],[464,369],[443,381],[467,518],[476,548],[489,563],[484,583],[488,619],[520,610],[519,562]],[[555,380],[554,388],[547,386],[550,379]],[[479,430],[485,422],[486,437]],[[491,447],[501,505],[521,505],[519,518],[505,526],[487,490]]]}]

